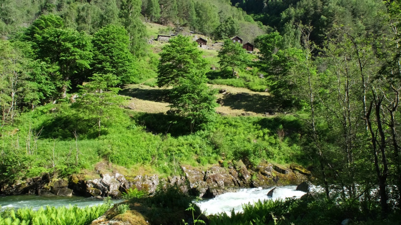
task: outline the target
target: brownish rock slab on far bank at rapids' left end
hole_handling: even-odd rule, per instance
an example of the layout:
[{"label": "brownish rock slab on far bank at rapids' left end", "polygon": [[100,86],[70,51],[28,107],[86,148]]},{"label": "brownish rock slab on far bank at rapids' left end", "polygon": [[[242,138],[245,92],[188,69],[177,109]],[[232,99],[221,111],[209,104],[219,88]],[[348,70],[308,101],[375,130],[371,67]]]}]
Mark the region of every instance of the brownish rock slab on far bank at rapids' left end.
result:
[{"label": "brownish rock slab on far bank at rapids' left end", "polygon": [[207,183],[204,181],[205,172],[191,166],[182,166],[181,169],[188,180],[190,191],[199,197],[205,195],[207,189],[209,189]]}]

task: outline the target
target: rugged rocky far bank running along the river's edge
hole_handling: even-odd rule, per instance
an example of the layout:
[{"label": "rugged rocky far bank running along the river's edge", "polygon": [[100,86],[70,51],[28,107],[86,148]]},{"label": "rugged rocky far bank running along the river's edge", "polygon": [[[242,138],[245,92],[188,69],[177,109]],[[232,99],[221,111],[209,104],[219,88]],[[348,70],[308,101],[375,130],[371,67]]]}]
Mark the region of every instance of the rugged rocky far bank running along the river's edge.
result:
[{"label": "rugged rocky far bank running along the river's edge", "polygon": [[19,195],[80,195],[87,197],[121,198],[127,189],[146,190],[153,193],[162,184],[177,185],[184,193],[199,197],[216,197],[237,188],[299,185],[312,177],[310,171],[298,166],[281,167],[262,163],[257,167],[246,167],[242,161],[221,162],[207,169],[182,165],[182,175],[159,178],[158,175],[122,175],[97,170],[97,178],[86,179],[76,174],[69,179],[50,179],[48,174],[41,177],[1,185],[0,194]]}]

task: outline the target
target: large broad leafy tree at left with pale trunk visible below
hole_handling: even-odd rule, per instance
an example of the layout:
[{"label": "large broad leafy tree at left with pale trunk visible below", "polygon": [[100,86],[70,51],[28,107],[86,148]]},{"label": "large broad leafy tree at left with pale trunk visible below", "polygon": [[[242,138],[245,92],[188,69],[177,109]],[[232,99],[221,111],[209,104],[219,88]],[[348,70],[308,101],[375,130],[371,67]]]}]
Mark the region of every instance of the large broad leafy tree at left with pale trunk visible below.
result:
[{"label": "large broad leafy tree at left with pale trunk visible below", "polygon": [[90,37],[70,28],[63,28],[59,16],[39,17],[27,29],[25,40],[32,42],[36,59],[57,66],[62,76],[61,97],[67,96],[70,79],[79,71],[89,69],[92,58]]}]

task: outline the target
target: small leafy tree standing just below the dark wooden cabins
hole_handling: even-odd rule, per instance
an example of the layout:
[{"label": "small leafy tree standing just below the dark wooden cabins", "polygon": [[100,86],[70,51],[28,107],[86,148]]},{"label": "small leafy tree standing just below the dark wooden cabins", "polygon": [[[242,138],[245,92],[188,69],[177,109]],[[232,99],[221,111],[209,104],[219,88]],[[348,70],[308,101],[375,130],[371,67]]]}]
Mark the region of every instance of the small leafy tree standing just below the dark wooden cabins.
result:
[{"label": "small leafy tree standing just below the dark wooden cabins", "polygon": [[242,44],[225,40],[224,45],[219,51],[219,64],[223,70],[231,68],[231,74],[234,76],[235,68],[245,68],[247,66],[248,57],[246,50],[242,48]]}]

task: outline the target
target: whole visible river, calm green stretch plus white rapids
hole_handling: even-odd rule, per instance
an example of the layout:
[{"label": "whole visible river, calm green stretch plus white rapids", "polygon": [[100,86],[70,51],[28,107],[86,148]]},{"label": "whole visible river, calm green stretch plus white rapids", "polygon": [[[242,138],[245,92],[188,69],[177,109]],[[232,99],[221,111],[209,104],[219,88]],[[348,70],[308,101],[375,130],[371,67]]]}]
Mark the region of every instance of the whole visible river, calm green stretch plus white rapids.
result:
[{"label": "whole visible river, calm green stretch plus white rapids", "polygon": [[[219,195],[214,199],[205,199],[198,202],[198,206],[202,211],[206,211],[207,215],[215,213],[230,213],[232,209],[236,212],[242,211],[242,204],[253,203],[265,199],[285,199],[286,197],[301,197],[305,193],[302,191],[296,191],[296,186],[284,186],[277,187],[273,197],[267,197],[267,193],[273,189],[261,189],[261,188],[247,188],[238,189],[235,193],[225,193]],[[121,200],[115,200],[118,202]],[[32,207],[33,209],[39,209],[46,205],[60,207],[77,205],[78,207],[93,206],[102,204],[103,200],[96,198],[85,198],[85,197],[60,197],[60,196],[37,196],[37,195],[12,195],[12,196],[0,196],[0,205],[2,208],[6,207]]]}]

